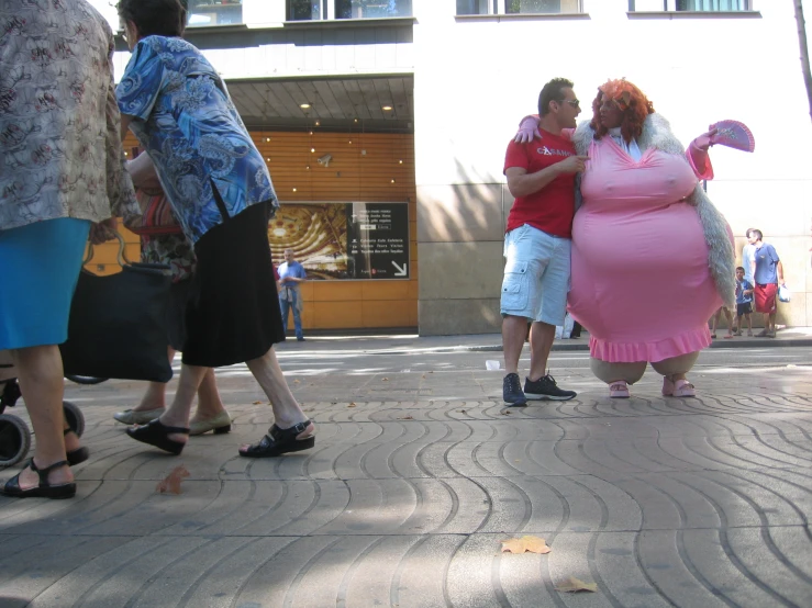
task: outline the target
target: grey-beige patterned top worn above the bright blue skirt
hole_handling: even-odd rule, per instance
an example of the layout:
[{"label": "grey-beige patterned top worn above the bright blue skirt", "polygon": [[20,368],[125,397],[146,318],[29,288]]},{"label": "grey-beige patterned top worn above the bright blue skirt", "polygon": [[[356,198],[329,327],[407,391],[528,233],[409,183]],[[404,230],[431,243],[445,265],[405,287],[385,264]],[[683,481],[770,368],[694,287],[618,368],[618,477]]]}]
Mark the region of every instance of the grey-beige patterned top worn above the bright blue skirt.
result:
[{"label": "grey-beige patterned top worn above the bright blue skirt", "polygon": [[85,0],[0,2],[0,230],[134,204],[113,34]]}]

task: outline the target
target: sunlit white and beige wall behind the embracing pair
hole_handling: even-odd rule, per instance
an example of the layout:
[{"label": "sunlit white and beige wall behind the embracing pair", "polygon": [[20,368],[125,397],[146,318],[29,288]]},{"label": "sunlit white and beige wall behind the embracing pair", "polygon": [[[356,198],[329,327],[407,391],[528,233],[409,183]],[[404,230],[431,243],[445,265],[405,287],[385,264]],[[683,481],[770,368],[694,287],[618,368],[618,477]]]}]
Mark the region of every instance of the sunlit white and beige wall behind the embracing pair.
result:
[{"label": "sunlit white and beige wall behind the embracing pair", "polygon": [[788,131],[812,137],[792,3],[753,4],[760,18],[630,18],[627,0],[585,0],[589,19],[455,19],[453,0],[414,0],[421,334],[499,330],[504,150],[556,76],[586,109],[597,86],[629,78],[685,144],[722,119],[748,124],[756,151],[714,148],[708,191],[739,259],[747,227],[782,257],[793,301],[779,323],[812,324],[812,151],[788,148]]}]

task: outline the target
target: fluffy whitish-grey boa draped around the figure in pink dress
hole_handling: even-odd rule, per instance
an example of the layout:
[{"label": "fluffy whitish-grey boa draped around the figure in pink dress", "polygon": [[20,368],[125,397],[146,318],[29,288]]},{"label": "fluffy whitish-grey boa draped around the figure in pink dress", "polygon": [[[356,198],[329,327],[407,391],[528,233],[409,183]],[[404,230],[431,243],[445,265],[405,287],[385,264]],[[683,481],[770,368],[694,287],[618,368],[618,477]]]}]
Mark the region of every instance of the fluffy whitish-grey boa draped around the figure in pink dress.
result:
[{"label": "fluffy whitish-grey boa draped around the figure in pink dress", "polygon": [[[594,132],[588,122],[578,125],[572,137],[576,150],[579,155],[586,156],[589,145],[592,143]],[[671,126],[668,121],[656,112],[649,114],[643,123],[643,133],[637,139],[637,146],[642,153],[648,148],[655,148],[667,154],[675,154],[685,157],[685,148],[682,144],[671,133]],[[580,178],[580,174],[579,174]],[[697,210],[699,219],[702,223],[704,239],[710,249],[708,255],[708,267],[711,270],[711,277],[716,284],[716,291],[722,297],[725,306],[733,307],[735,297],[735,254],[733,245],[727,235],[727,222],[719,210],[702,190],[701,184],[697,183],[693,193],[686,199],[686,202]],[[576,209],[581,204],[580,179],[576,180]]]}]

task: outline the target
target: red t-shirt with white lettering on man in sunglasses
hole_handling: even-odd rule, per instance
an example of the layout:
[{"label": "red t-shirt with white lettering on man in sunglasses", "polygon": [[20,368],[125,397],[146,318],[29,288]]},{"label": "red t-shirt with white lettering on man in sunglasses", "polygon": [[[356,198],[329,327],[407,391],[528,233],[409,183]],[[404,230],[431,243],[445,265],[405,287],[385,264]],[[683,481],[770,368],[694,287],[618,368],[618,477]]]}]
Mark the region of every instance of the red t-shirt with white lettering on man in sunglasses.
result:
[{"label": "red t-shirt with white lettering on man in sunglasses", "polygon": [[[575,146],[569,139],[541,130],[542,138],[527,144],[508,144],[504,155],[504,170],[511,167],[526,169],[535,173],[550,165],[575,156]],[[558,176],[538,192],[518,196],[508,214],[508,228],[511,232],[524,224],[554,236],[572,236],[572,215],[575,214],[575,173]]]}]

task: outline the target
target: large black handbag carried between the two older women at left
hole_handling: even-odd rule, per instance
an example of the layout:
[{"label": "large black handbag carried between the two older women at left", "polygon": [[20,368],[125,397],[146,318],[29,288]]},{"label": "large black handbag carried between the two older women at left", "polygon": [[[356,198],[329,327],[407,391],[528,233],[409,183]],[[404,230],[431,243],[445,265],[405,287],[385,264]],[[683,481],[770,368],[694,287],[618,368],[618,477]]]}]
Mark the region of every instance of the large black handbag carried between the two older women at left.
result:
[{"label": "large black handbag carried between the two older women at left", "polygon": [[[132,263],[119,237],[118,274],[99,277],[82,268],[70,305],[68,341],[59,347],[65,374],[168,382],[168,267]],[[88,259],[93,247],[88,247]]]}]

